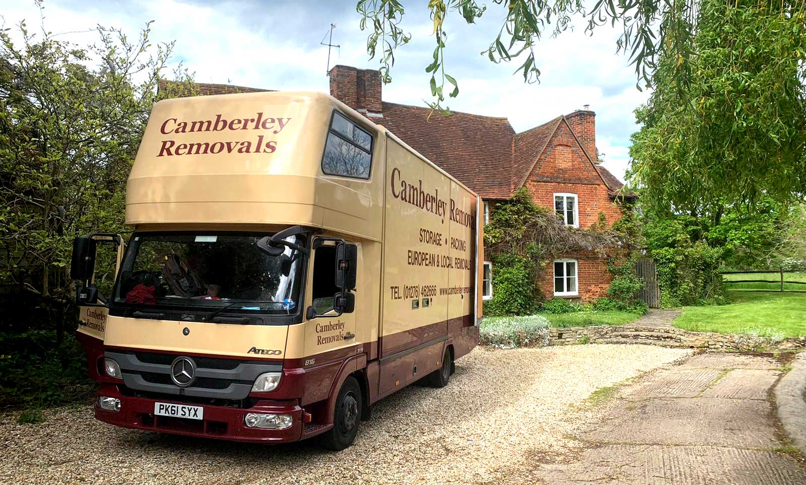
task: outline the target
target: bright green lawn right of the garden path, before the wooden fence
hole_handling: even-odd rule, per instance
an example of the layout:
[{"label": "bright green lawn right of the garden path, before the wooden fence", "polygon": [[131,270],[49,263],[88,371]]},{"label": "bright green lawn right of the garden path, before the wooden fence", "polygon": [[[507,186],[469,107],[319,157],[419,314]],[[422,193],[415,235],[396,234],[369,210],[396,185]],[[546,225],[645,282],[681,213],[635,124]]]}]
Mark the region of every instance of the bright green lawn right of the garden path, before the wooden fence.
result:
[{"label": "bright green lawn right of the garden path, before the wooden fence", "polygon": [[728,305],[687,306],[678,328],[720,334],[806,335],[806,292],[729,291]]}]

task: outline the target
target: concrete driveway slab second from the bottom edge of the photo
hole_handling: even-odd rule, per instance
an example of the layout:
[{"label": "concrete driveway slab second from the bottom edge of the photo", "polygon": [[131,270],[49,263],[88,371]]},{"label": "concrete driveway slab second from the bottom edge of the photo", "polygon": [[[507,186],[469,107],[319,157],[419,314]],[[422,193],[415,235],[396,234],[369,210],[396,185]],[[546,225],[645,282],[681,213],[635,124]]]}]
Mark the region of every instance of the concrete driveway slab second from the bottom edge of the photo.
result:
[{"label": "concrete driveway slab second from the bottom edge of the photo", "polygon": [[581,433],[585,441],[769,448],[778,445],[761,400],[653,399],[622,402],[595,429]]}]

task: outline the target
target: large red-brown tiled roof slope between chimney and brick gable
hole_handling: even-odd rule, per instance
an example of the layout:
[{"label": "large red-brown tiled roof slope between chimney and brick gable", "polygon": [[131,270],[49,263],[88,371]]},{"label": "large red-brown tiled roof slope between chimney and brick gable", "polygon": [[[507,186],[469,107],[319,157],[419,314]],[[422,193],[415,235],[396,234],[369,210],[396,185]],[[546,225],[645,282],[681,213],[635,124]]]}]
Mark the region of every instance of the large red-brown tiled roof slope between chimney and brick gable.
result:
[{"label": "large red-brown tiled roof slope between chimney and brick gable", "polygon": [[459,111],[445,115],[429,108],[383,102],[383,118],[370,119],[481,197],[512,195],[515,131],[507,118]]}]

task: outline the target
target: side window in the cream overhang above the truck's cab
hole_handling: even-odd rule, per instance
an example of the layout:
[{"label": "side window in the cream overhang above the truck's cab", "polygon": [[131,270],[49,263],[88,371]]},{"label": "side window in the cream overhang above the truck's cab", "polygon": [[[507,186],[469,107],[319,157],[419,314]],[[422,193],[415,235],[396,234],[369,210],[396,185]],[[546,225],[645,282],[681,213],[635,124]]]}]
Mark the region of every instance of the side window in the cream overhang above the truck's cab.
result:
[{"label": "side window in the cream overhang above the truck's cab", "polygon": [[372,135],[334,111],[322,156],[322,172],[368,179],[371,168]]}]

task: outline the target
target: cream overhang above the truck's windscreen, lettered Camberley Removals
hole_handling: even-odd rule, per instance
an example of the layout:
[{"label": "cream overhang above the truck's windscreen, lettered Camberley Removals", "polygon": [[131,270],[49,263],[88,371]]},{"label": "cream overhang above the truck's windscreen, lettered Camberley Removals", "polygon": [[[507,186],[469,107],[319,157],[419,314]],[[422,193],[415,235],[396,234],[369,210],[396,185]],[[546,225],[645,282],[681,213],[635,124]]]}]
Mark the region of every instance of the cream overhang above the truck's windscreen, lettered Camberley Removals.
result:
[{"label": "cream overhang above the truck's windscreen, lettered Camberley Removals", "polygon": [[[247,93],[177,98],[158,102],[148,120],[127,185],[126,223],[273,224],[321,227],[380,240],[382,187],[370,180],[323,176],[320,162],[333,110],[355,114],[376,139],[380,130],[355,111],[322,93]],[[285,120],[253,129],[176,133],[179,120]],[[356,116],[357,115],[357,116]],[[174,122],[173,120],[177,120]],[[168,123],[168,124],[166,124]],[[240,123],[243,125],[243,122]],[[164,131],[168,131],[165,134]],[[274,151],[239,153],[246,143],[274,142]],[[165,151],[166,143],[172,150]],[[177,155],[182,144],[215,143],[218,154]],[[232,148],[232,153],[227,149]],[[376,143],[374,160],[382,160]],[[168,155],[171,153],[171,155]],[[374,177],[375,174],[372,174]]]}]

